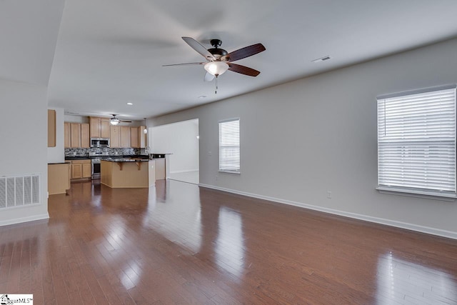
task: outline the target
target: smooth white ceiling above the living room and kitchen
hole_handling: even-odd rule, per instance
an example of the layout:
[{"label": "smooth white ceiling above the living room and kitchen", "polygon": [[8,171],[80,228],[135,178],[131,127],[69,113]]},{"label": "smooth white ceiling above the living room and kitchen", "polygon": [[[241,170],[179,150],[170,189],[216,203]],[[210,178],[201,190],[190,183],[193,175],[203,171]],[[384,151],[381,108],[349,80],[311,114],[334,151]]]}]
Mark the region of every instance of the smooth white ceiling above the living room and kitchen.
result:
[{"label": "smooth white ceiling above the living room and kitchen", "polygon": [[[455,0],[0,0],[0,77],[49,77],[49,106],[68,112],[142,119],[455,37],[456,12]],[[203,59],[181,36],[229,52],[260,42],[236,64],[261,74],[227,71],[214,94],[203,66],[162,66]]]}]

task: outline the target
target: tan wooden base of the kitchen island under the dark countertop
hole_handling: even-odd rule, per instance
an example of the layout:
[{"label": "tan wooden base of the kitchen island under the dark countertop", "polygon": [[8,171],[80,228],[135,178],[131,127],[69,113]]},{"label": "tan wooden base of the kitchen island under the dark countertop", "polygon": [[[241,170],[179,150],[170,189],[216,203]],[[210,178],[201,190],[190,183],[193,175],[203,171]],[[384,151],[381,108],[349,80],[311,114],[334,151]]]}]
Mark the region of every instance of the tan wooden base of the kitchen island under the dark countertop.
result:
[{"label": "tan wooden base of the kitchen island under the dark countertop", "polygon": [[155,161],[101,160],[101,184],[111,188],[148,188],[156,184]]}]

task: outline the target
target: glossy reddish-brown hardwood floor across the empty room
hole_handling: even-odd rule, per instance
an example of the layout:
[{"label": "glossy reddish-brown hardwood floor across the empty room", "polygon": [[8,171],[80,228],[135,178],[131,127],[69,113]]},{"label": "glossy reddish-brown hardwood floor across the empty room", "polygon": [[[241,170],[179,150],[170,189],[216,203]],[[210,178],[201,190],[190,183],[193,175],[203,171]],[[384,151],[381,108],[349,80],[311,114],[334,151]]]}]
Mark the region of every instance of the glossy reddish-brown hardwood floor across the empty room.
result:
[{"label": "glossy reddish-brown hardwood floor across the empty room", "polygon": [[157,181],[71,185],[0,227],[0,293],[34,304],[457,304],[457,241]]}]

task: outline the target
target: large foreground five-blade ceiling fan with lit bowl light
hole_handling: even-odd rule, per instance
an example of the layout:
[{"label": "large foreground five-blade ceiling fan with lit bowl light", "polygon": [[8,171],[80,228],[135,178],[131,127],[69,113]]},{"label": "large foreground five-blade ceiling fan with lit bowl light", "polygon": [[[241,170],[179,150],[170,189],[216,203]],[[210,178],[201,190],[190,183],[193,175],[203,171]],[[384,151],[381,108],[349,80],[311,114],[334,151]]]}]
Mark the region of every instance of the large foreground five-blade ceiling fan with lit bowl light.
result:
[{"label": "large foreground five-blade ceiling fan with lit bowl light", "polygon": [[245,46],[244,48],[231,51],[230,53],[224,49],[219,49],[222,44],[220,39],[211,39],[210,43],[213,48],[206,49],[202,46],[199,41],[191,37],[181,37],[186,44],[189,44],[192,49],[197,51],[197,53],[204,56],[206,61],[202,62],[191,62],[186,64],[165,64],[163,66],[191,66],[191,65],[204,65],[206,74],[204,81],[212,81],[214,77],[217,77],[224,74],[227,70],[236,72],[239,74],[244,74],[247,76],[258,76],[260,71],[254,70],[247,66],[241,66],[240,64],[233,64],[233,61],[238,61],[249,56],[253,56],[260,52],[265,51],[265,46],[263,44],[253,44],[252,46]]}]

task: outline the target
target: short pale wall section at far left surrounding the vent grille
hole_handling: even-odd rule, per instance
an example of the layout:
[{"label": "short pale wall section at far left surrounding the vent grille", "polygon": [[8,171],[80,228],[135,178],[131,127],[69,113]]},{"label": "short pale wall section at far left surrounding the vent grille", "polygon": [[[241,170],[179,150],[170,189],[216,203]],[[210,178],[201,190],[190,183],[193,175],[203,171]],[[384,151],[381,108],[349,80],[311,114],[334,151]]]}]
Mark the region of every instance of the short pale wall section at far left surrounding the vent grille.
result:
[{"label": "short pale wall section at far left surrounding the vent grille", "polygon": [[41,174],[41,204],[2,210],[0,226],[49,217],[46,91],[0,79],[0,176]]}]

